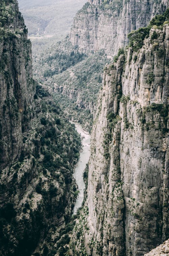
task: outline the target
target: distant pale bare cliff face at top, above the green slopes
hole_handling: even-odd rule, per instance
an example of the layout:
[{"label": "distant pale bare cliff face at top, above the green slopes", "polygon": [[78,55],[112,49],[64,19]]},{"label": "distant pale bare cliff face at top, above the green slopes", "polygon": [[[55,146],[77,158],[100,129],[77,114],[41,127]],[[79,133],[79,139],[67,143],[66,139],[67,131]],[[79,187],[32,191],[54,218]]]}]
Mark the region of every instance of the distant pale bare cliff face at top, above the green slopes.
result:
[{"label": "distant pale bare cliff face at top, above the green slopes", "polygon": [[124,47],[130,31],[145,27],[156,14],[163,14],[168,1],[90,0],[74,19],[70,41],[86,52],[104,49],[115,55]]}]

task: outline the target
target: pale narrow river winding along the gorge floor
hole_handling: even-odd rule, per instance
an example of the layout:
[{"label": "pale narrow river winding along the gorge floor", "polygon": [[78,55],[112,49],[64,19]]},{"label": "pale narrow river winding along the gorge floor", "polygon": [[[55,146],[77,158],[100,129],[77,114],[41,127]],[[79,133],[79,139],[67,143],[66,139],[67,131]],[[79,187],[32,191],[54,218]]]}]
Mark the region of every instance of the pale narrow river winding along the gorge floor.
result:
[{"label": "pale narrow river winding along the gorge floor", "polygon": [[81,143],[82,143],[82,151],[80,152],[80,158],[79,161],[76,165],[75,172],[74,172],[74,178],[76,180],[76,183],[78,185],[78,190],[79,194],[75,202],[75,206],[73,209],[73,214],[76,214],[77,209],[81,207],[83,198],[84,198],[84,189],[85,189],[85,184],[83,181],[83,172],[84,169],[86,168],[86,164],[89,161],[90,157],[90,134],[85,132],[81,125],[75,124],[76,131],[80,134],[81,136]]}]

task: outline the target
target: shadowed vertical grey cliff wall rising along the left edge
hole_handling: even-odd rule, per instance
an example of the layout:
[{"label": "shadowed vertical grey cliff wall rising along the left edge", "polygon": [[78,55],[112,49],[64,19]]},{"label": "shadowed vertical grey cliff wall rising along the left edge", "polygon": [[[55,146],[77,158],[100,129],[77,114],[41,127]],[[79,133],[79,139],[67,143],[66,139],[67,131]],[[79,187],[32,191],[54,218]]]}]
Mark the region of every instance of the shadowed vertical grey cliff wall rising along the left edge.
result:
[{"label": "shadowed vertical grey cliff wall rising along the left edge", "polygon": [[16,1],[2,1],[0,27],[0,170],[20,157],[30,129],[35,87],[31,43]]}]

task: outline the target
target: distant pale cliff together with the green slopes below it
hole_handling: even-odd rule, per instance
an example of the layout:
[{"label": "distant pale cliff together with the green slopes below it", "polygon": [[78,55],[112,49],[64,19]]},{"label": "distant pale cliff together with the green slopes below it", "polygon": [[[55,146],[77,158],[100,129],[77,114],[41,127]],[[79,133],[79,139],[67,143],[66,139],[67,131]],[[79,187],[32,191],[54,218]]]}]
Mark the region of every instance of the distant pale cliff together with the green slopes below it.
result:
[{"label": "distant pale cliff together with the green slopes below it", "polygon": [[[154,15],[163,14],[167,4],[166,0],[88,1],[77,13],[69,36],[43,53],[40,60],[36,57],[38,76],[53,88],[65,111],[69,112],[71,105],[77,112],[76,121],[86,129],[91,129],[95,116],[102,67],[128,43],[128,33],[146,26]],[[62,56],[57,58],[60,52]],[[82,58],[78,58],[79,53],[84,54]]]}]

